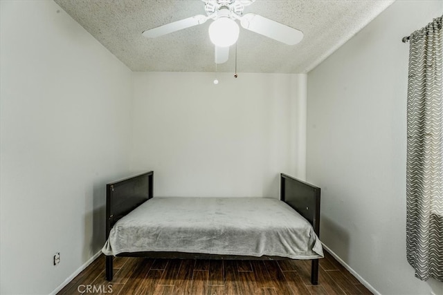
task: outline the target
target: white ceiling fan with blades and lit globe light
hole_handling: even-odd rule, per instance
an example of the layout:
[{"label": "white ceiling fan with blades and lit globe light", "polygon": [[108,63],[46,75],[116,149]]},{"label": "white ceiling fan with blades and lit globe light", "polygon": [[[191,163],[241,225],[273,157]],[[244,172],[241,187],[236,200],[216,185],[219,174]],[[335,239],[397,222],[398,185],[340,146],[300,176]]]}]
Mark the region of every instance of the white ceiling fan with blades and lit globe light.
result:
[{"label": "white ceiling fan with blades and lit globe light", "polygon": [[243,15],[244,6],[251,5],[255,0],[201,0],[205,3],[205,15],[195,15],[150,30],[145,30],[143,36],[156,38],[171,32],[205,23],[213,19],[209,26],[210,40],[215,44],[215,63],[223,64],[228,61],[229,46],[235,44],[239,36],[239,26],[260,35],[280,41],[284,44],[295,45],[303,39],[300,30],[291,28],[272,19],[267,19],[254,13]]}]

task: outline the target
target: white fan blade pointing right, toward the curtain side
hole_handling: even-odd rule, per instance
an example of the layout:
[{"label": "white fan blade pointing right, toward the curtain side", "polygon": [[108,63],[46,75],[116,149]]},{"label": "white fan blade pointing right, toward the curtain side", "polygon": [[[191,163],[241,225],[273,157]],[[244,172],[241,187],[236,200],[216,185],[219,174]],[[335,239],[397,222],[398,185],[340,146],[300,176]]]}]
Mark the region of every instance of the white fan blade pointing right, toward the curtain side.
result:
[{"label": "white fan blade pointing right, toward the curtain side", "polygon": [[284,44],[295,45],[302,41],[303,33],[272,19],[266,19],[254,13],[248,13],[241,19],[242,27],[257,34],[280,41]]}]

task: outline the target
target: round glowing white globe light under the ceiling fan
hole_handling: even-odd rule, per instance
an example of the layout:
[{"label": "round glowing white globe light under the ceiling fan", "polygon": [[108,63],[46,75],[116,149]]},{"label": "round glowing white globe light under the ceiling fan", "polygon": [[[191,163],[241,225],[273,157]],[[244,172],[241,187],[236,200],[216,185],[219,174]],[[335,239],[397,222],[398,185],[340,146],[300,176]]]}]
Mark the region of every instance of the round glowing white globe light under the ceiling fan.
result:
[{"label": "round glowing white globe light under the ceiling fan", "polygon": [[209,38],[215,46],[229,47],[237,42],[240,29],[237,23],[228,17],[220,17],[209,26]]}]

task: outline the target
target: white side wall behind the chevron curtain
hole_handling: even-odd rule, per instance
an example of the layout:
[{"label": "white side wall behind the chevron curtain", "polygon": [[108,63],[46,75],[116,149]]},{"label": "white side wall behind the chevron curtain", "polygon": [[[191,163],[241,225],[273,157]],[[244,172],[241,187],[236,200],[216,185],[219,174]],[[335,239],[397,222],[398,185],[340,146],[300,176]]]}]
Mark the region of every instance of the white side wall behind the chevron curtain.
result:
[{"label": "white side wall behind the chevron curtain", "polygon": [[320,238],[381,294],[442,294],[406,262],[406,90],[401,38],[442,1],[396,1],[308,75],[307,180]]}]

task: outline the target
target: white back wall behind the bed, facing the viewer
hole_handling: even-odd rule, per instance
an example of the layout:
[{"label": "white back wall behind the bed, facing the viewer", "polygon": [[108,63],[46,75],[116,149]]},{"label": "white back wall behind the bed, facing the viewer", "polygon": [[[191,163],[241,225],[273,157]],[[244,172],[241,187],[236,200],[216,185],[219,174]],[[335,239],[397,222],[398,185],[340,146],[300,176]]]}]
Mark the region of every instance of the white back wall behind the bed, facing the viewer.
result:
[{"label": "white back wall behind the bed, facing the viewer", "polygon": [[132,169],[154,170],[155,196],[278,197],[278,173],[305,177],[305,89],[306,75],[134,73]]}]

